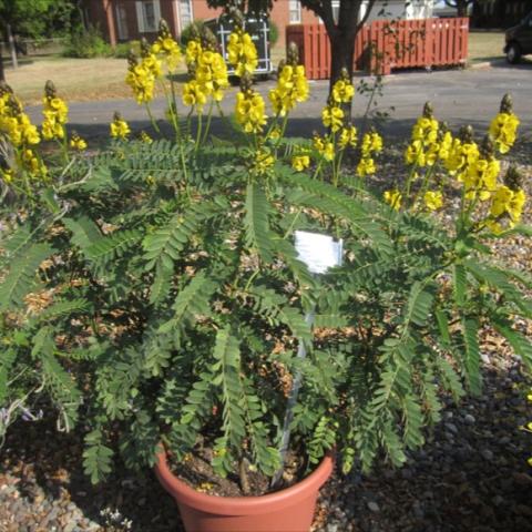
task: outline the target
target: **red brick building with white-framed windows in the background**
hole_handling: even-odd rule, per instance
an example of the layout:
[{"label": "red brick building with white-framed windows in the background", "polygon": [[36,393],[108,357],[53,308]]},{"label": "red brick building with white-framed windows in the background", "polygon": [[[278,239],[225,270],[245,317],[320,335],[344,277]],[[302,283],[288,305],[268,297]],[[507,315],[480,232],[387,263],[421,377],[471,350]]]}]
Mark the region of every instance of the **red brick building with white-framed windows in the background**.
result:
[{"label": "red brick building with white-framed windows in the background", "polygon": [[[207,0],[84,0],[85,21],[98,25],[111,44],[145,37],[152,39],[161,18],[174,35],[180,35],[193,20],[216,18],[221,10],[209,9]],[[285,27],[316,23],[317,17],[301,8],[299,0],[277,0],[270,13],[279,30],[279,45],[285,44]]]}]

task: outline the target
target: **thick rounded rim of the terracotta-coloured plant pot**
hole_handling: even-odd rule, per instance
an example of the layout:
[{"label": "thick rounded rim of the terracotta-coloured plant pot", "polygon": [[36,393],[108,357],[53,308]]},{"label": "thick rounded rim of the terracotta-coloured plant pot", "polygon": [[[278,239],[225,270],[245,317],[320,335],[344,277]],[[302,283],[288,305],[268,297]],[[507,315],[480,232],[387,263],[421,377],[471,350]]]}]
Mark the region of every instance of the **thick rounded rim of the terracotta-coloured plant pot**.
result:
[{"label": "thick rounded rim of the terracotta-coloured plant pot", "polygon": [[200,493],[172,473],[163,446],[160,447],[154,466],[160,482],[178,503],[221,515],[259,514],[270,511],[273,505],[280,510],[297,504],[317,492],[328,480],[332,469],[334,457],[329,451],[308,477],[289,488],[266,495],[218,497]]}]

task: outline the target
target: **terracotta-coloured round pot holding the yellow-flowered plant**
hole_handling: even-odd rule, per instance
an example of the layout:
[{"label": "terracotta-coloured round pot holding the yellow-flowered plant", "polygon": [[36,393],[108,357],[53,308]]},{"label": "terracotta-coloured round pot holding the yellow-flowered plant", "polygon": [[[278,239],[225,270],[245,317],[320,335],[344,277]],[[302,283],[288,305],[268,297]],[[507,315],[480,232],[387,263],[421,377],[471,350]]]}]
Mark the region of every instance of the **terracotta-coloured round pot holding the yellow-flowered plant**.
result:
[{"label": "terracotta-coloured round pot holding the yellow-flowered plant", "polygon": [[155,474],[175,499],[187,532],[308,532],[318,491],[332,472],[325,457],[301,482],[262,497],[216,497],[198,493],[175,477],[164,450],[157,454]]}]

